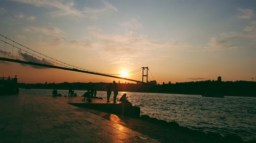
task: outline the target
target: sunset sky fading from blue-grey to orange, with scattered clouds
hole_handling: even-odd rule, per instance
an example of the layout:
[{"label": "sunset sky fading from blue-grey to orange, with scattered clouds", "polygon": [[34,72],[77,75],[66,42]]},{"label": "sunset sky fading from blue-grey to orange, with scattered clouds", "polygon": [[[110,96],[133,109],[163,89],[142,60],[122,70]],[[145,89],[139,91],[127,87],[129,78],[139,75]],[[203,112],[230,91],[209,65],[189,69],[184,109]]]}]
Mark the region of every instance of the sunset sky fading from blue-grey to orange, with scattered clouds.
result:
[{"label": "sunset sky fading from blue-grey to orange, with scattered clouds", "polygon": [[[256,1],[250,0],[2,0],[0,34],[51,58],[101,73],[148,67],[148,80],[160,84],[218,76],[223,81],[251,81],[256,77],[255,11]],[[14,54],[28,60],[3,41],[0,57]],[[26,83],[119,80],[3,61],[0,69],[0,76],[17,75]],[[127,78],[142,80],[142,72]]]}]

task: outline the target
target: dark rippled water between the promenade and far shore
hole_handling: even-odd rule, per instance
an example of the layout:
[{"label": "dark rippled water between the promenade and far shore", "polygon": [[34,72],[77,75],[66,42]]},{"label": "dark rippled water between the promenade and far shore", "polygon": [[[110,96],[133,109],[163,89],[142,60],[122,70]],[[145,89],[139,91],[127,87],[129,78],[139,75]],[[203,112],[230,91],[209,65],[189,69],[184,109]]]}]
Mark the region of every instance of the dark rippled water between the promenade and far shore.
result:
[{"label": "dark rippled water between the promenade and far shore", "polygon": [[[77,96],[86,91],[75,91]],[[20,94],[52,95],[52,90],[20,89]],[[236,134],[243,140],[256,139],[256,97],[225,96],[225,98],[201,95],[119,92],[141,109],[141,115],[175,121],[180,126],[221,135]],[[62,96],[68,90],[58,90]],[[105,91],[97,91],[97,97],[106,99]],[[113,93],[111,95],[113,99]]]}]

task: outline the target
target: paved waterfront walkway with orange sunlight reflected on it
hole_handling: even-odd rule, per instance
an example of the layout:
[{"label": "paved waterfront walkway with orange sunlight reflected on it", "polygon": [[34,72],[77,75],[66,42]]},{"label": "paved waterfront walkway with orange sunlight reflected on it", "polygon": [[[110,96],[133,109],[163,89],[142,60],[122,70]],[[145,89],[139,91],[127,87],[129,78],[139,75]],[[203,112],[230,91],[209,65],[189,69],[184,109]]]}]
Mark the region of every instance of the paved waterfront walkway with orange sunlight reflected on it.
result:
[{"label": "paved waterfront walkway with orange sunlight reflected on it", "polygon": [[44,95],[0,96],[0,142],[159,142]]}]

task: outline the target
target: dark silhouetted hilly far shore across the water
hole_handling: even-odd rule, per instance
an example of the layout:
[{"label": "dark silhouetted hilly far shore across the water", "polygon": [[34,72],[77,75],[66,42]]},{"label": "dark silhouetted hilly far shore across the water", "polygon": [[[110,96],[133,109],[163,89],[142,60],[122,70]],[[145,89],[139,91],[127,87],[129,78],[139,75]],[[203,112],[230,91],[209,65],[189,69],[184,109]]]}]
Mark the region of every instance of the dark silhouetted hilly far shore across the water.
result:
[{"label": "dark silhouetted hilly far shore across the water", "polygon": [[[61,82],[61,83],[18,83],[20,88],[38,88],[38,89],[70,89],[88,90],[91,85],[98,91],[106,91],[107,82]],[[169,94],[188,94],[202,95],[205,92],[209,94],[220,94],[224,96],[248,96],[256,97],[253,90],[256,82],[254,81],[221,81],[205,80],[176,83],[154,83],[152,85],[143,85],[138,83],[117,83],[120,91],[127,92],[145,92],[145,93],[169,93]]]}]

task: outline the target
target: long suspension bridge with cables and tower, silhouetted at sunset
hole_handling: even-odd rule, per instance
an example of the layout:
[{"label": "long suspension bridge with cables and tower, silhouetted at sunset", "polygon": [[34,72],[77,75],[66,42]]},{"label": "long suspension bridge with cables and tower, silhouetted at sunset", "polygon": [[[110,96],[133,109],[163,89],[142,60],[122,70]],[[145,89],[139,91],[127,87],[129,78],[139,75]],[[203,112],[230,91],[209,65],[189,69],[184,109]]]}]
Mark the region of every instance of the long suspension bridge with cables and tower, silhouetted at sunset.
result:
[{"label": "long suspension bridge with cables and tower, silhouetted at sunset", "polygon": [[[88,74],[94,74],[94,75],[100,75],[100,76],[106,76],[106,77],[113,77],[113,78],[119,78],[123,80],[134,81],[142,84],[151,84],[151,83],[148,83],[148,78],[150,78],[150,76],[148,76],[148,72],[150,72],[151,77],[154,79],[148,67],[142,67],[137,70],[127,72],[127,74],[142,72],[142,81],[121,77],[120,73],[110,74],[110,73],[102,73],[102,72],[87,70],[87,69],[70,65],[66,62],[62,62],[54,58],[51,58],[46,54],[35,51],[1,34],[0,34],[0,45],[2,47],[0,48],[0,61],[28,64],[33,66],[55,68],[55,69],[61,69],[61,70],[69,70],[69,71],[82,72],[82,73],[88,73]],[[144,82],[144,77],[146,77],[146,82]]]}]

